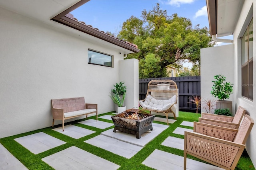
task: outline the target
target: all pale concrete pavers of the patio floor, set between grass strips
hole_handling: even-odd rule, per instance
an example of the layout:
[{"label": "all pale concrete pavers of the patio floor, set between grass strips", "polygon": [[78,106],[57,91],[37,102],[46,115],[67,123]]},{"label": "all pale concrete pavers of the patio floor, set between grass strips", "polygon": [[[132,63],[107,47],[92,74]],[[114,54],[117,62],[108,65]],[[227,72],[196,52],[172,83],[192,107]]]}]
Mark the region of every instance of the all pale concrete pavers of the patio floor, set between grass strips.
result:
[{"label": "all pale concrete pavers of the patio floor, set between grass strips", "polygon": [[[99,118],[110,120],[111,115],[104,115]],[[166,118],[158,117],[157,121],[166,121]],[[174,122],[175,120],[169,121],[169,125],[171,126],[171,123]],[[100,120],[95,121],[94,119],[88,119],[79,123],[100,129],[105,129],[113,126],[113,123],[107,123]],[[193,126],[193,122],[183,121],[180,125]],[[120,131],[116,131],[116,133],[113,133],[113,129],[108,129],[106,131],[103,131],[100,135],[92,137],[84,142],[130,159],[137,152],[143,149],[146,144],[148,144],[150,141],[152,141],[155,137],[157,137],[160,133],[162,133],[165,129],[169,127],[168,125],[163,125],[159,123],[152,123],[152,126],[154,130],[147,131],[141,136],[140,139],[136,139],[135,135],[132,134],[123,133]],[[62,127],[54,128],[53,130],[59,133],[63,133],[64,135],[67,135],[74,139],[79,139],[81,137],[94,133],[94,131],[92,130],[78,127],[75,125],[66,125],[64,128],[64,132],[62,132]],[[183,135],[184,131],[192,131],[192,129],[177,127],[173,131],[173,133]],[[43,132],[19,137],[14,140],[34,154],[39,154],[46,150],[65,144],[64,141],[56,139],[55,137],[52,137]],[[167,137],[161,145],[183,150],[184,139]],[[27,169],[2,145],[0,145],[0,149],[1,170]],[[105,160],[104,158],[100,158],[99,156],[96,156],[76,146],[71,146],[67,149],[46,156],[42,158],[42,160],[52,166],[54,169],[116,170],[120,167],[120,165],[118,164],[114,164],[113,162]],[[142,164],[156,170],[183,170],[183,157],[156,149],[142,162]],[[198,162],[196,160],[187,159],[187,169],[219,170],[222,168]]]}]

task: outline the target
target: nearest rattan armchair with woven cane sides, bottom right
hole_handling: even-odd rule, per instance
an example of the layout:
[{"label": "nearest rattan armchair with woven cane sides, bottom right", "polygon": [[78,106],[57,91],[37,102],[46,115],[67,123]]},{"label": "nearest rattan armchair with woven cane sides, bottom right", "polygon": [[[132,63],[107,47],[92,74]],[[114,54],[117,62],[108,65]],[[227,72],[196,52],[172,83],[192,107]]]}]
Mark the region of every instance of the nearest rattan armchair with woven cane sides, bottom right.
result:
[{"label": "nearest rattan armchair with woven cane sides, bottom right", "polygon": [[[245,115],[238,130],[206,125],[204,123],[199,124],[201,125],[194,128],[194,132],[185,131],[184,170],[186,170],[187,154],[219,166],[220,168],[234,170],[254,125],[253,119],[249,115]],[[212,129],[211,126],[213,127]],[[220,130],[216,130],[218,128]],[[227,131],[236,132],[233,135],[227,135]]]}]

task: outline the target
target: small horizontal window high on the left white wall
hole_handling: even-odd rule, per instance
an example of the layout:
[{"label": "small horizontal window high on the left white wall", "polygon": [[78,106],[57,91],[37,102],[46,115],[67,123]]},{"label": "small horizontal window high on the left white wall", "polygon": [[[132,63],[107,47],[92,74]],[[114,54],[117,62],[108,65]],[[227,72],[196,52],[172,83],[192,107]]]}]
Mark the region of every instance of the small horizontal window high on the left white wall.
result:
[{"label": "small horizontal window high on the left white wall", "polygon": [[88,50],[88,63],[112,67],[112,55]]}]

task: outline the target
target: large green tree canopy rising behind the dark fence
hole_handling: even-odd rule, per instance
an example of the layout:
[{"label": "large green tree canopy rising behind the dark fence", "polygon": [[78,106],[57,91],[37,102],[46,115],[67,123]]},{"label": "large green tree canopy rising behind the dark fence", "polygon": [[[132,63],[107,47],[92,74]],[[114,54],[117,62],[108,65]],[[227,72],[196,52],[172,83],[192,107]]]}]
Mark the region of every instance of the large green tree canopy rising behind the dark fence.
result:
[{"label": "large green tree canopy rising behind the dark fence", "polygon": [[214,45],[207,27],[192,28],[188,18],[177,14],[168,16],[158,3],[153,10],[143,10],[141,17],[142,20],[131,16],[118,34],[119,39],[134,43],[140,49],[139,53],[127,57],[140,61],[139,78],[165,77],[166,66],[180,67],[185,59],[200,64],[200,49]]}]

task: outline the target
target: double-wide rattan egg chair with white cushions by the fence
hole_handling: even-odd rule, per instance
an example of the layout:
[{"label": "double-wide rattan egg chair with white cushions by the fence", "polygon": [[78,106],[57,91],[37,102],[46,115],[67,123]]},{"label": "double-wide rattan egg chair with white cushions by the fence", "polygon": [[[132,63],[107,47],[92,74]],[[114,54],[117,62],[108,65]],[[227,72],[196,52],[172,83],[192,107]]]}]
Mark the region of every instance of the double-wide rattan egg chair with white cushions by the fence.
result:
[{"label": "double-wide rattan egg chair with white cushions by the fence", "polygon": [[[165,113],[168,122],[168,113],[173,113],[174,119],[178,98],[177,84],[173,80],[151,80],[148,83],[146,98],[140,100],[140,107],[157,113]],[[177,106],[178,107],[178,106]]]}]

